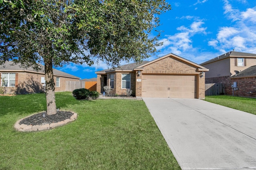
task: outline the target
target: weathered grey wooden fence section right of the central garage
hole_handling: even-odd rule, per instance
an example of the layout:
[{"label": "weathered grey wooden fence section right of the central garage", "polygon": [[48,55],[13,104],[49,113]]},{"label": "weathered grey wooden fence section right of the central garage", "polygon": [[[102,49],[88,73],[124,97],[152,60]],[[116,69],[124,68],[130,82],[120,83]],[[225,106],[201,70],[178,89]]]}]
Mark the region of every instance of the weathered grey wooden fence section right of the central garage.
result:
[{"label": "weathered grey wooden fence section right of the central garage", "polygon": [[213,96],[224,94],[224,84],[222,83],[212,83],[205,84],[205,96]]}]

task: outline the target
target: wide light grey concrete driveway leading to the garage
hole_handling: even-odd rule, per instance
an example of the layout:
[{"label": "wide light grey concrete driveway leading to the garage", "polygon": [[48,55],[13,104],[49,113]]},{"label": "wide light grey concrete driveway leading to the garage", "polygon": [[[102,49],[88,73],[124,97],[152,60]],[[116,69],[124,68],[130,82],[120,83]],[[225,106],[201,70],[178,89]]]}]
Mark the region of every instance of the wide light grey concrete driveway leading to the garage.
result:
[{"label": "wide light grey concrete driveway leading to the garage", "polygon": [[256,169],[256,115],[199,99],[143,100],[183,170]]}]

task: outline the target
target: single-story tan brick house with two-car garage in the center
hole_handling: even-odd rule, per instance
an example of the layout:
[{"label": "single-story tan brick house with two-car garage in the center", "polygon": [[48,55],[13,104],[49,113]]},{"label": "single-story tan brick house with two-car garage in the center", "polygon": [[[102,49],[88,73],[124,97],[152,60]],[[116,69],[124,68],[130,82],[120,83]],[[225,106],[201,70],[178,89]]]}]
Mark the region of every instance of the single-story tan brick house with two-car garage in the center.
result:
[{"label": "single-story tan brick house with two-car garage in the center", "polygon": [[208,69],[171,53],[96,72],[97,91],[103,93],[103,87],[110,86],[111,93],[118,95],[130,89],[136,97],[204,98],[205,71]]}]

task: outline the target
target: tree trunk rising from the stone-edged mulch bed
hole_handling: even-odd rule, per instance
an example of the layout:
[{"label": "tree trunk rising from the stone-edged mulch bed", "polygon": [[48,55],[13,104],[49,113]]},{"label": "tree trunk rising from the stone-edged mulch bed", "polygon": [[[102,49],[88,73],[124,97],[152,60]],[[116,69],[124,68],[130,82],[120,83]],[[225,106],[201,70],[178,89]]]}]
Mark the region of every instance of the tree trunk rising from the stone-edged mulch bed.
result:
[{"label": "tree trunk rising from the stone-edged mulch bed", "polygon": [[44,59],[44,72],[46,83],[46,104],[47,114],[56,114],[56,102],[55,102],[55,83],[52,69],[52,59],[46,57]]}]

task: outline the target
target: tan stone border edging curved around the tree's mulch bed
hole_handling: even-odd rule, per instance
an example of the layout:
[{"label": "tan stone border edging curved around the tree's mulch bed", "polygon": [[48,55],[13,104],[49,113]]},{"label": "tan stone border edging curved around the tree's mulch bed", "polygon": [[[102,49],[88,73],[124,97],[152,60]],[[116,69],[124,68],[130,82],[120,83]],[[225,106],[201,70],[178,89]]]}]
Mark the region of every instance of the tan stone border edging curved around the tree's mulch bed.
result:
[{"label": "tan stone border edging curved around the tree's mulch bed", "polygon": [[[70,111],[72,112],[72,111]],[[22,121],[23,119],[26,119],[27,117],[30,117],[32,115],[29,115],[27,117],[24,117],[20,120],[18,120],[15,125],[14,128],[17,131],[21,131],[21,132],[31,132],[31,131],[45,131],[45,130],[50,130],[53,129],[54,127],[58,127],[58,126],[62,126],[62,125],[66,125],[67,123],[76,120],[77,118],[77,113],[72,112],[73,115],[70,117],[70,119],[66,119],[64,121],[59,121],[56,123],[50,123],[50,124],[43,124],[43,125],[25,125],[25,124],[21,124],[20,125],[20,121]],[[38,114],[38,113],[35,113]],[[35,115],[33,114],[33,115]]]}]

